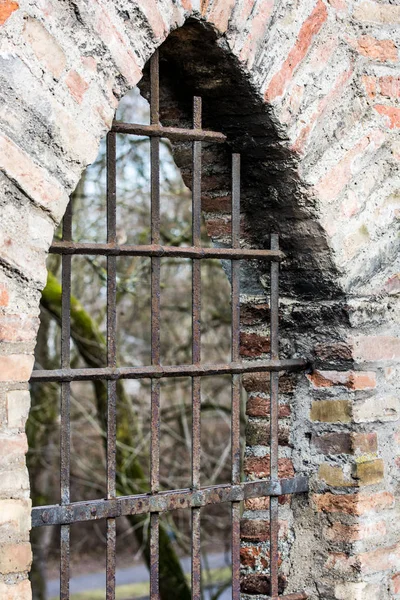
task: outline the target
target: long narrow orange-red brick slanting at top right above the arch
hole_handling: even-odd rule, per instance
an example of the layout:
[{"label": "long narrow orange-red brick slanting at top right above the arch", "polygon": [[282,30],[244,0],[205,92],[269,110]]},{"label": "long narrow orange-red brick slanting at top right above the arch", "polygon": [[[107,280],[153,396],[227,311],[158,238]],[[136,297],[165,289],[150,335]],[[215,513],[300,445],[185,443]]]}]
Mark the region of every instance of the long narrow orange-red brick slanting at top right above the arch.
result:
[{"label": "long narrow orange-red brick slanting at top right above the arch", "polygon": [[295,69],[307,55],[314,37],[318,34],[322,25],[326,21],[328,11],[322,0],[318,0],[314,10],[303,23],[296,43],[289,52],[288,57],[283,63],[280,71],[276,73],[265,93],[265,99],[269,102],[282,96],[287,84],[291,80]]}]

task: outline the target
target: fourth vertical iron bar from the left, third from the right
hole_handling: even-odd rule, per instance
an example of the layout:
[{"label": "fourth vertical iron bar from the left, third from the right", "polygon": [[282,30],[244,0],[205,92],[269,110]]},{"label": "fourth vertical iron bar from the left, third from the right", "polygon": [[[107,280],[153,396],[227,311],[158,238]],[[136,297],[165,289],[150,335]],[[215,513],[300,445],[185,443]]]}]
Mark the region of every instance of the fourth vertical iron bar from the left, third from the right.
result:
[{"label": "fourth vertical iron bar from the left, third from the right", "polygon": [[[193,99],[193,127],[201,128],[201,98]],[[201,142],[193,142],[192,244],[201,246]],[[192,261],[192,362],[201,361],[201,264]],[[201,378],[192,377],[192,488],[200,487]],[[200,508],[192,508],[192,598],[201,598]]]}]

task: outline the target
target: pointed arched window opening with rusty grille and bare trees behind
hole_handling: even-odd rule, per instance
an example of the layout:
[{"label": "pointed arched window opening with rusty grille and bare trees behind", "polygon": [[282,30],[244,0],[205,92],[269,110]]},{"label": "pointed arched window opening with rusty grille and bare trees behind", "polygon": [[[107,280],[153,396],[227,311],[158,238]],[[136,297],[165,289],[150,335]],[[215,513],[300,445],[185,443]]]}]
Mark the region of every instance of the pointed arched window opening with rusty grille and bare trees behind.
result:
[{"label": "pointed arched window opening with rusty grille and bare trees behind", "polygon": [[[115,598],[118,553],[126,561],[133,551],[141,551],[149,567],[152,599],[216,597],[226,585],[238,599],[241,502],[269,497],[268,593],[277,598],[278,497],[307,490],[304,478],[278,479],[278,373],[305,364],[279,359],[283,253],[276,234],[268,236],[267,249],[241,246],[239,153],[225,132],[203,128],[199,96],[193,98],[190,126],[184,119],[179,127],[162,126],[158,52],[149,70],[142,91],[150,91],[150,123],[132,123],[131,117],[126,122],[132,111],[147,110],[132,92],[119,108],[123,120],[114,122],[105,151],[81,180],[51,247],[32,375],[38,402],[29,426],[33,525],[60,529],[63,600],[73,597],[71,565],[81,557],[79,545],[98,557],[102,536],[106,581],[99,587],[105,585],[107,600]],[[168,100],[164,92],[161,102]],[[220,144],[222,155],[214,153]],[[213,171],[214,156],[222,157],[223,171]],[[226,188],[228,172],[229,189],[211,196],[214,207],[224,205],[226,216],[204,221],[210,196],[203,191],[218,177]],[[207,229],[219,243],[214,239],[210,245]],[[257,361],[243,360],[252,348],[240,341],[241,265],[248,261],[270,265],[270,356]],[[269,480],[242,477],[240,378],[251,373],[271,373]],[[44,484],[34,479],[39,473],[43,479],[37,465],[58,462],[52,452],[52,446],[58,449],[53,427],[58,396],[60,498],[54,468]],[[43,434],[50,436],[46,444]],[[40,552],[45,558],[43,537],[36,544],[39,563]],[[227,548],[229,584],[221,571]],[[211,557],[218,564],[208,581],[201,577],[202,551],[205,566]],[[39,572],[34,569],[33,576]]]}]

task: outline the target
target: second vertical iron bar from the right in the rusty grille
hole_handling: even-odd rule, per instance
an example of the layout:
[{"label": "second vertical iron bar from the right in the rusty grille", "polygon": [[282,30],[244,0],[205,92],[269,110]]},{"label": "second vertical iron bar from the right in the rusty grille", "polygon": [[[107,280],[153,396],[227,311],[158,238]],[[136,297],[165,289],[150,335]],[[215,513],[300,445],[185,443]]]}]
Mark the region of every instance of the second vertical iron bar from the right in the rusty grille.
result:
[{"label": "second vertical iron bar from the right in the rusty grille", "polygon": [[[232,155],[232,248],[240,247],[240,154]],[[232,362],[239,361],[240,261],[231,263]],[[240,483],[240,375],[232,375],[232,484]],[[232,599],[240,599],[240,502],[232,502]]]}]

